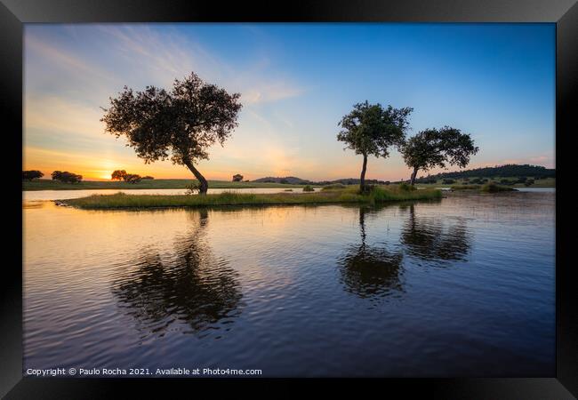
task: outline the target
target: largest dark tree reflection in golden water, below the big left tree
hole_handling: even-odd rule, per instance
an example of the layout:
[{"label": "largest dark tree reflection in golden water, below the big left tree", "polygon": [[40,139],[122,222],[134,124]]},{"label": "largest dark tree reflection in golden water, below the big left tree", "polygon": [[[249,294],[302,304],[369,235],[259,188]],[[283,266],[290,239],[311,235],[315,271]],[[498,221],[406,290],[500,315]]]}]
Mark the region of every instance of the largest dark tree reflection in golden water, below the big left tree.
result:
[{"label": "largest dark tree reflection in golden water, below the big left tree", "polygon": [[[149,249],[134,269],[113,283],[118,305],[139,322],[144,336],[163,336],[173,324],[183,332],[205,336],[208,330],[229,331],[239,316],[242,292],[237,272],[216,257],[205,237],[208,213],[190,212],[189,234],[176,241],[169,257]],[[217,335],[215,339],[220,336]]]}]

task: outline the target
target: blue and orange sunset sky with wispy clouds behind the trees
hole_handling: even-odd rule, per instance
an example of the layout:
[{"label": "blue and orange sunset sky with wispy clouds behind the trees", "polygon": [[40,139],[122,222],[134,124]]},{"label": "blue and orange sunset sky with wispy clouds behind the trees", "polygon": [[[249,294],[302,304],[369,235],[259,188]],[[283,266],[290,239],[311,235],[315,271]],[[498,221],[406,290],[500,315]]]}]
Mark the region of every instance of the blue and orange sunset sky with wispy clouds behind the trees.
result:
[{"label": "blue and orange sunset sky with wispy clouds behind the trees", "polygon": [[[229,140],[197,165],[207,179],[358,177],[361,156],[336,136],[365,100],[412,107],[409,137],[470,133],[469,168],[555,166],[554,24],[172,23],[26,24],[23,168],[191,178],[171,161],[144,164],[100,122],[124,85],[169,89],[191,71],[243,104]],[[368,179],[410,175],[395,150],[367,168]]]}]

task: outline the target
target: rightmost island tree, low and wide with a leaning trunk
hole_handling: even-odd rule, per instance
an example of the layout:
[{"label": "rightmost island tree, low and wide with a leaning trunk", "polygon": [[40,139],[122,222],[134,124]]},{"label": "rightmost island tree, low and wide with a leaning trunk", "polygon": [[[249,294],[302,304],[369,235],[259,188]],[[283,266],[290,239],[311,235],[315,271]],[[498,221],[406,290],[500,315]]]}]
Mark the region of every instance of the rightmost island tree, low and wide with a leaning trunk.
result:
[{"label": "rightmost island tree, low and wide with a leaning trunk", "polygon": [[413,168],[411,185],[418,171],[446,168],[446,164],[460,168],[470,163],[470,156],[478,153],[470,134],[445,126],[441,129],[426,129],[407,140],[402,147],[405,164]]}]

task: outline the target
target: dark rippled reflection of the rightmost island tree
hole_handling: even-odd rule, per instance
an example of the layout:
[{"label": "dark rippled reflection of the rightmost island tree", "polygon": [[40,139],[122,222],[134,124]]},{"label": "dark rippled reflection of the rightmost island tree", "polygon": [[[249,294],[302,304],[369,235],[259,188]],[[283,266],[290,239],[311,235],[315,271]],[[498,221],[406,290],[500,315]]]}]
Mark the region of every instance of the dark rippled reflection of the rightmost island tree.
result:
[{"label": "dark rippled reflection of the rightmost island tree", "polygon": [[[449,222],[449,226],[444,225]],[[470,252],[472,238],[462,218],[416,216],[415,205],[401,232],[405,252],[421,260],[462,261]]]}]

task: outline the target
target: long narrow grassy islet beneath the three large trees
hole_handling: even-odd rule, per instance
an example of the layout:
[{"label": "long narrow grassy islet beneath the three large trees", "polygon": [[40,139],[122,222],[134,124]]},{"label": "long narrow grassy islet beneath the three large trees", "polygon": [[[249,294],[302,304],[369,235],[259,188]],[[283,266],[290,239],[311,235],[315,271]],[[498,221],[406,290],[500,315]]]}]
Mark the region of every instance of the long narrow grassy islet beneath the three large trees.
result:
[{"label": "long narrow grassy islet beneath the three large trees", "polygon": [[406,190],[397,186],[373,188],[369,195],[357,194],[357,188],[325,190],[316,193],[239,194],[225,192],[206,196],[165,195],[92,195],[62,201],[64,204],[90,210],[159,207],[211,207],[223,205],[274,204],[380,204],[405,200],[441,198],[438,189]]}]

